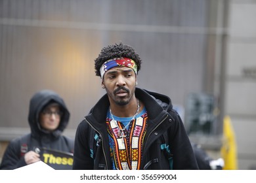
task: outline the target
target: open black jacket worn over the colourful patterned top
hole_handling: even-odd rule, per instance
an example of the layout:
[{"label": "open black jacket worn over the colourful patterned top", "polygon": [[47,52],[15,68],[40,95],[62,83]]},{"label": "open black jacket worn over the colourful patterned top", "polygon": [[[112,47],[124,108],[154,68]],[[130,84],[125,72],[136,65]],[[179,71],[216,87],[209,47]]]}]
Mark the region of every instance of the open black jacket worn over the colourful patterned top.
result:
[{"label": "open black jacket worn over the colourful patterned top", "polygon": [[[167,143],[173,154],[173,169],[198,169],[184,125],[173,110],[171,99],[139,88],[136,88],[135,96],[144,103],[148,112],[140,169],[169,169],[167,156],[160,148],[163,133],[167,134]],[[105,124],[109,106],[108,95],[104,95],[77,127],[73,169],[112,169]],[[95,140],[95,133],[99,139]]]}]

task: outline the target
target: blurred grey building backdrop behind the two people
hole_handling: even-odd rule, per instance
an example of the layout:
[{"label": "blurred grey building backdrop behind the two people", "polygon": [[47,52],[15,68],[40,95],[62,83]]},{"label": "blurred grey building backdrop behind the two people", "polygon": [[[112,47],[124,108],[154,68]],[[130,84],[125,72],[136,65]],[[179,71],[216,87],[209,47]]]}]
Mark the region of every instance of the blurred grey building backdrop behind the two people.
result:
[{"label": "blurred grey building backdrop behind the two people", "polygon": [[233,168],[253,169],[255,17],[255,0],[0,0],[0,161],[30,131],[29,101],[42,89],[64,97],[74,137],[105,93],[94,59],[121,41],[142,58],[138,86],[171,97],[191,141],[221,157],[229,116]]}]

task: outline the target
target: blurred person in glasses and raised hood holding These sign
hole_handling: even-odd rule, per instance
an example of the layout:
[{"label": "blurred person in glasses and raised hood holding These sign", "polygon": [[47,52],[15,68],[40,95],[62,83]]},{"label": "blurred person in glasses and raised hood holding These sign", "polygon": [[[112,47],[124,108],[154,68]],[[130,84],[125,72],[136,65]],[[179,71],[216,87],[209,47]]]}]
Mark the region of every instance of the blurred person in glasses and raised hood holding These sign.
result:
[{"label": "blurred person in glasses and raised hood holding These sign", "polygon": [[57,93],[35,93],[28,114],[31,133],[12,139],[0,169],[17,169],[40,160],[54,169],[70,169],[67,165],[72,167],[74,139],[62,135],[69,118],[70,112]]}]

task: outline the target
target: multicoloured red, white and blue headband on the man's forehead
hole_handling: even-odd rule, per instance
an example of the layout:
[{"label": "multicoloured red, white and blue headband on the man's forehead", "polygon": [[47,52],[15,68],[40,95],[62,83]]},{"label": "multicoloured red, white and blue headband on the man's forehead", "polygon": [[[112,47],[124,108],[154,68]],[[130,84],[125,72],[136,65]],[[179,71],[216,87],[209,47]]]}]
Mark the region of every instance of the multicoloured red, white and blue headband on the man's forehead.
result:
[{"label": "multicoloured red, white and blue headband on the man's forehead", "polygon": [[112,69],[113,67],[117,66],[124,66],[124,67],[130,67],[135,71],[135,74],[137,75],[137,64],[133,59],[130,58],[114,58],[109,59],[105,61],[102,66],[100,67],[100,76],[103,78],[106,71]]}]

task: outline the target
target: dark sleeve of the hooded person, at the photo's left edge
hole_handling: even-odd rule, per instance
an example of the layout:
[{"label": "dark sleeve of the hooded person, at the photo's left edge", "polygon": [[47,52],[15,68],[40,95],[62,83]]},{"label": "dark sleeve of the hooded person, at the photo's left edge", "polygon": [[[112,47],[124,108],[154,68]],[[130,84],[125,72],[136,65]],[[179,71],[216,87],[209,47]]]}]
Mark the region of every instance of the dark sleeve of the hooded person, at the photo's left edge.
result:
[{"label": "dark sleeve of the hooded person, at the photo's left edge", "polygon": [[12,140],[5,154],[3,155],[0,169],[1,170],[12,170],[27,165],[24,156],[20,156],[20,138]]}]

